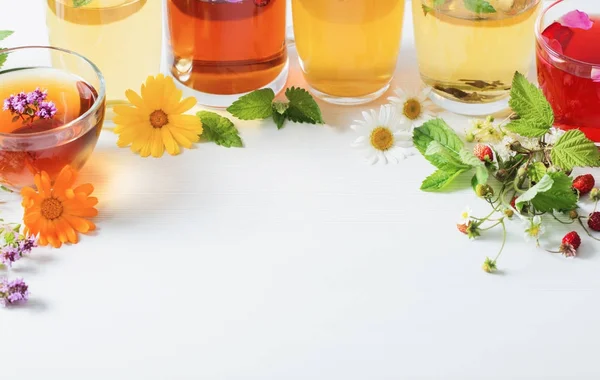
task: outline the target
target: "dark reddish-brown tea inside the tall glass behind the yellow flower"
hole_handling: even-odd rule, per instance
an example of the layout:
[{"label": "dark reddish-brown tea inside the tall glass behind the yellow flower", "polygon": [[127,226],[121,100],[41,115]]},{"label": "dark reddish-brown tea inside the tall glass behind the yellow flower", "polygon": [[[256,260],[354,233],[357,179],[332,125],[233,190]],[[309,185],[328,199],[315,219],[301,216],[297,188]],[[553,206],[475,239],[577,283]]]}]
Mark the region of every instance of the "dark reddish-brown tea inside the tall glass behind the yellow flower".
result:
[{"label": "dark reddish-brown tea inside the tall glass behind the yellow flower", "polygon": [[287,63],[285,0],[168,0],[171,73],[200,92],[267,86]]}]

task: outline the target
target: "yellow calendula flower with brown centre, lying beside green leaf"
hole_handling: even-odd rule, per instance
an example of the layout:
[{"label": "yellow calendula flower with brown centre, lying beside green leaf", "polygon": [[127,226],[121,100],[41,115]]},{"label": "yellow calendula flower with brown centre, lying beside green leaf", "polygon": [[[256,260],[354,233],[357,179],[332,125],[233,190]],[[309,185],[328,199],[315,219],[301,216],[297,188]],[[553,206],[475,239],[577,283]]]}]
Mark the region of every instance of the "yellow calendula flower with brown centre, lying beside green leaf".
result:
[{"label": "yellow calendula flower with brown centre, lying beside green leaf", "polygon": [[181,100],[182,92],[173,79],[162,74],[149,76],[141,90],[141,96],[133,90],[125,92],[133,106],[114,107],[118,146],[131,146],[142,157],[161,157],[165,149],[176,155],[180,146],[191,148],[198,142],[202,134],[200,119],[183,115],[196,105],[196,99]]}]

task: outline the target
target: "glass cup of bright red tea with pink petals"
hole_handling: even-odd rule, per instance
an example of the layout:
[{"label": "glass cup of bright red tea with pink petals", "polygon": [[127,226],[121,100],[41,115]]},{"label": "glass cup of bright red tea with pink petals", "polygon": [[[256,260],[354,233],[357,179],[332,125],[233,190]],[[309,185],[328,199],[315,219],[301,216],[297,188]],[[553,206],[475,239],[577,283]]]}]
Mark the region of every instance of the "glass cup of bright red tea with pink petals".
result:
[{"label": "glass cup of bright red tea with pink petals", "polygon": [[537,25],[538,82],[556,126],[600,142],[600,1],[560,0]]}]

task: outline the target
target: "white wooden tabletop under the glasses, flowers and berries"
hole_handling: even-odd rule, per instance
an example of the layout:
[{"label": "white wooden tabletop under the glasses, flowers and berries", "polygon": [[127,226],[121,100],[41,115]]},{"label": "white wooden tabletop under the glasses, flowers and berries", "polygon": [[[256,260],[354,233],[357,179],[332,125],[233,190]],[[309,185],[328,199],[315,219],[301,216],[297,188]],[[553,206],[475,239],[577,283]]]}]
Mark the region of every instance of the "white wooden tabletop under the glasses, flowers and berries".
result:
[{"label": "white wooden tabletop under the glasses, flowers and berries", "polygon": [[[0,1],[7,44],[44,43],[42,1],[14,4]],[[401,85],[418,83],[407,11]],[[245,149],[160,160],[104,131],[82,178],[99,230],[15,266],[32,298],[0,310],[0,378],[598,378],[598,245],[567,260],[515,221],[501,273],[484,273],[500,231],[455,228],[483,202],[420,192],[421,157],[370,166],[350,148],[350,121],[376,105],[323,105],[328,126],[237,122]],[[556,245],[567,230],[552,230]]]}]

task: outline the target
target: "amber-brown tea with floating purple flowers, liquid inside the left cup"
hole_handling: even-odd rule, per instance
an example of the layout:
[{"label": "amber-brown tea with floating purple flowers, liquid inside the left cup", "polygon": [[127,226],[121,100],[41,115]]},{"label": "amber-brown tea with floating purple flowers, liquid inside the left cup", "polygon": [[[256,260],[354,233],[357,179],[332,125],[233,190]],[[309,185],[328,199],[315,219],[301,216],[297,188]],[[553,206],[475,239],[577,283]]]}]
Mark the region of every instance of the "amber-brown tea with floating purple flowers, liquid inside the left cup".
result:
[{"label": "amber-brown tea with floating purple flowers, liquid inside the left cup", "polygon": [[[18,189],[32,185],[42,170],[54,178],[65,165],[80,169],[94,150],[103,118],[91,128],[85,121],[64,132],[60,127],[83,115],[97,98],[88,83],[58,69],[0,75],[0,182]],[[51,144],[36,144],[39,133],[50,130],[57,131]]]}]

